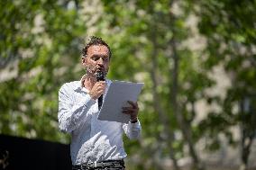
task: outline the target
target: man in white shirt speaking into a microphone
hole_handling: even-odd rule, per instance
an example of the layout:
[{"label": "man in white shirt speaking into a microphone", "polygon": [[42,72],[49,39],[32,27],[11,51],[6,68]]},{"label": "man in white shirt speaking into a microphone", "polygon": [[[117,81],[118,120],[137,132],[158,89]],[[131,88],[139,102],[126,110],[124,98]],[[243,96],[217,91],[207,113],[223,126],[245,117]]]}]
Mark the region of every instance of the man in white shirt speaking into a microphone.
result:
[{"label": "man in white shirt speaking into a microphone", "polygon": [[[123,132],[129,139],[138,139],[141,124],[139,107],[128,101],[123,113],[131,116],[129,123],[97,120],[99,98],[111,81],[105,79],[111,50],[104,40],[92,37],[82,50],[82,65],[87,74],[80,81],[66,83],[59,89],[59,129],[71,134],[70,155],[72,169],[124,169]],[[97,79],[98,73],[104,79]]]}]

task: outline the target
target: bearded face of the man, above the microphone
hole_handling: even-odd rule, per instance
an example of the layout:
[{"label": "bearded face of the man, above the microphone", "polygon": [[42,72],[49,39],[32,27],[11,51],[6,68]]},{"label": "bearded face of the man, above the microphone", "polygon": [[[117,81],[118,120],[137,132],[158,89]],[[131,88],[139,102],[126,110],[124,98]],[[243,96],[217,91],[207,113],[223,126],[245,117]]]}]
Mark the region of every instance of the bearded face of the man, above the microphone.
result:
[{"label": "bearded face of the man, above the microphone", "polygon": [[109,51],[103,45],[92,45],[87,49],[87,57],[82,58],[82,64],[87,68],[87,74],[95,75],[103,71],[105,75],[109,68]]}]

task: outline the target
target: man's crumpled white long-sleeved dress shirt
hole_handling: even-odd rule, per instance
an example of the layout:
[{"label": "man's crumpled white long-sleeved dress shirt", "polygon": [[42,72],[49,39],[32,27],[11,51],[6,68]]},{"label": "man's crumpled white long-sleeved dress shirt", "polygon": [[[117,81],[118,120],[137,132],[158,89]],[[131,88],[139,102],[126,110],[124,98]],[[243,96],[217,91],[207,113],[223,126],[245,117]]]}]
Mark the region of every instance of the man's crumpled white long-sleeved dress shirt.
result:
[{"label": "man's crumpled white long-sleeved dress shirt", "polygon": [[[126,157],[123,132],[129,139],[141,136],[140,121],[121,123],[99,121],[98,104],[81,81],[66,83],[59,89],[59,129],[71,134],[70,155],[73,165]],[[111,84],[106,80],[106,90]],[[103,102],[105,99],[103,96]]]}]

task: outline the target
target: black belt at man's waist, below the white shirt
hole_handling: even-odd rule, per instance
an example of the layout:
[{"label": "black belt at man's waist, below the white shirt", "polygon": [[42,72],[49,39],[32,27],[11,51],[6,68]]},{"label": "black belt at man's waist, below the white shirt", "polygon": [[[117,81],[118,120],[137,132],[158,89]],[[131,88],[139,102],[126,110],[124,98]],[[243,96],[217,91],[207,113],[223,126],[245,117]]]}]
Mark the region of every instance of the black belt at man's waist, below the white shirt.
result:
[{"label": "black belt at man's waist, below the white shirt", "polygon": [[86,169],[112,167],[112,166],[125,167],[124,161],[123,161],[123,159],[121,159],[121,160],[105,160],[105,161],[92,162],[92,163],[87,163],[87,164],[82,164],[82,165],[75,165],[75,166],[72,166],[72,169],[86,170]]}]

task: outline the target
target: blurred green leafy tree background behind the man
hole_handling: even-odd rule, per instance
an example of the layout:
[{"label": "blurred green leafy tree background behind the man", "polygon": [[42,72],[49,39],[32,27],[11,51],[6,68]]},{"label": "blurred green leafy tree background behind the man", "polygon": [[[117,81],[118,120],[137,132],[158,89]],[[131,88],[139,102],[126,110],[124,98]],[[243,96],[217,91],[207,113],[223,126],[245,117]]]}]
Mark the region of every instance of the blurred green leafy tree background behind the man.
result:
[{"label": "blurred green leafy tree background behind the man", "polygon": [[108,78],[144,82],[127,169],[256,169],[255,0],[0,1],[0,133],[69,144],[58,91],[85,73],[87,37]]}]

